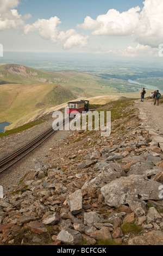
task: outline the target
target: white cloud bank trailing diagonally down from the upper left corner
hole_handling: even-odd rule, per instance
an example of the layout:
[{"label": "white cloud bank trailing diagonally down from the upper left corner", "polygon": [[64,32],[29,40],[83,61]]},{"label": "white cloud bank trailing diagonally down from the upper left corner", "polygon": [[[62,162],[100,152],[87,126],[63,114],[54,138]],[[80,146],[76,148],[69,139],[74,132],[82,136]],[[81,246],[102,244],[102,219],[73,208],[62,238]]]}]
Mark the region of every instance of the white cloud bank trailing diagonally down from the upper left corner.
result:
[{"label": "white cloud bank trailing diagonally down from the upper left corner", "polygon": [[14,28],[20,29],[23,35],[37,32],[43,39],[63,42],[64,49],[70,49],[73,46],[86,46],[87,36],[78,34],[74,29],[69,29],[66,32],[60,31],[61,21],[57,16],[50,19],[38,19],[33,24],[24,23],[24,20],[30,19],[32,16],[26,14],[22,17],[16,9],[13,9],[19,2],[18,0],[0,0],[0,31]]}]

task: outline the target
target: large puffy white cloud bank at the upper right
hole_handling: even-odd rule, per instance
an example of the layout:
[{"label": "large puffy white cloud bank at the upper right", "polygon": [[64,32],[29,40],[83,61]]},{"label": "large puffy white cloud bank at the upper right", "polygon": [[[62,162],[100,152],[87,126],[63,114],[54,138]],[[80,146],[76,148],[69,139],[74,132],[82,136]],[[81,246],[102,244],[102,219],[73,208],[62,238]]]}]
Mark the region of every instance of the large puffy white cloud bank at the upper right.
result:
[{"label": "large puffy white cloud bank at the upper right", "polygon": [[120,13],[111,9],[96,20],[87,16],[79,28],[91,29],[92,35],[127,36],[134,35],[135,41],[142,45],[158,47],[163,40],[163,1],[145,0],[140,7]]}]

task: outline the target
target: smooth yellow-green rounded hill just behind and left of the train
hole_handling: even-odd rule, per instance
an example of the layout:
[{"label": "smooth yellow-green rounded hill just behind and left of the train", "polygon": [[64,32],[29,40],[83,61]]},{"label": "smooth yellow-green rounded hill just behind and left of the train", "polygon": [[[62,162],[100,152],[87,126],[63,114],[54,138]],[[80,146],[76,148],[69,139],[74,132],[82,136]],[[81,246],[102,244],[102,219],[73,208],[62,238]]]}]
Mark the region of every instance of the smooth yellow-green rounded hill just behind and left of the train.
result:
[{"label": "smooth yellow-green rounded hill just behind and left of the train", "polygon": [[[51,99],[53,96],[53,100]],[[5,84],[0,86],[0,122],[22,125],[36,113],[73,99],[73,94],[55,84]],[[49,99],[49,100],[48,100]],[[55,101],[56,99],[56,101]],[[40,104],[41,103],[41,104]]]}]

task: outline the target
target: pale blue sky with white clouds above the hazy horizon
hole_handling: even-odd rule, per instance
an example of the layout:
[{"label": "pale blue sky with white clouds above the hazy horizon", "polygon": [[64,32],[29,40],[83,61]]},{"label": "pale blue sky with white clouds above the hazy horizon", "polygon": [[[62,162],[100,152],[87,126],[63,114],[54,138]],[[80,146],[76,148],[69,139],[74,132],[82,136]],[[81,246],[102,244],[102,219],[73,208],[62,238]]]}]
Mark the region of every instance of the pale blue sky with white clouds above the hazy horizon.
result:
[{"label": "pale blue sky with white clouds above the hazy horizon", "polygon": [[9,52],[158,58],[162,0],[0,0],[0,44]]}]

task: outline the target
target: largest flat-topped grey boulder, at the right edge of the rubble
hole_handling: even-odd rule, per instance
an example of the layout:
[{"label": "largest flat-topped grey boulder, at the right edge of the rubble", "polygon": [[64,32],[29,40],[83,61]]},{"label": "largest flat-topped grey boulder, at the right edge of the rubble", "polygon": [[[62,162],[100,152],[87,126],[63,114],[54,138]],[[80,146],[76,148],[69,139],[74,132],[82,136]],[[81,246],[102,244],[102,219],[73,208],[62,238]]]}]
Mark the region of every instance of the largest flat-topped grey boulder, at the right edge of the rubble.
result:
[{"label": "largest flat-topped grey boulder, at the right edge of the rubble", "polygon": [[101,192],[105,203],[117,208],[123,204],[128,204],[134,198],[159,200],[160,185],[162,184],[148,180],[145,176],[130,175],[111,181],[101,188]]}]

